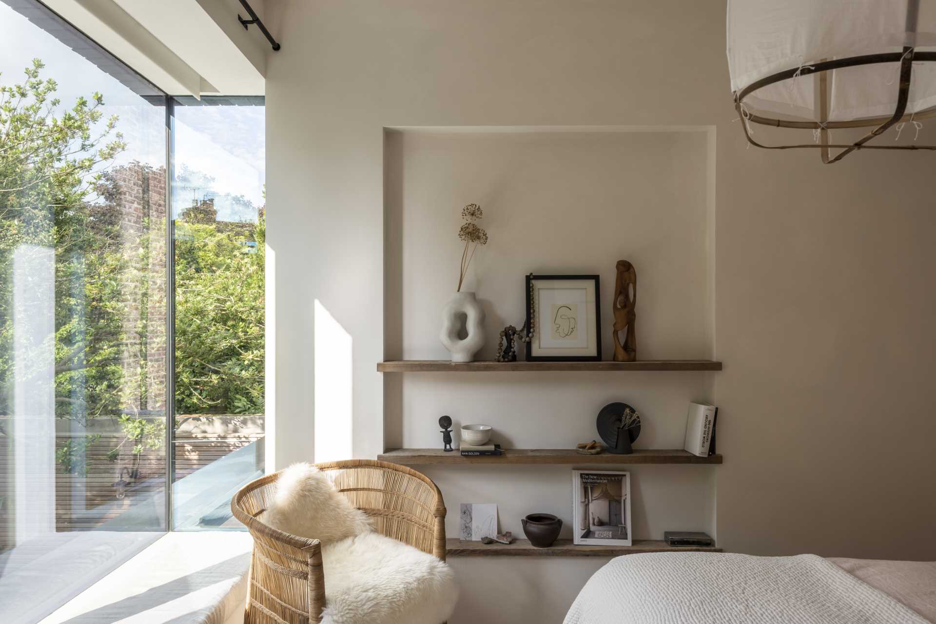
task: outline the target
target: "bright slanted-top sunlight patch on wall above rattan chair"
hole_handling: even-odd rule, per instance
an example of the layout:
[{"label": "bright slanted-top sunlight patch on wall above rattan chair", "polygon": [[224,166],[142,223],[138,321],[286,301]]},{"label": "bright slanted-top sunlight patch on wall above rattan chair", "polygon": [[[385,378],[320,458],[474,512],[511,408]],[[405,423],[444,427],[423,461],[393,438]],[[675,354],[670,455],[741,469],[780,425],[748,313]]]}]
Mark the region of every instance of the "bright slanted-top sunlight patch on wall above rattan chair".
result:
[{"label": "bright slanted-top sunlight patch on wall above rattan chair", "polygon": [[352,339],[315,299],[315,461],[352,456]]}]

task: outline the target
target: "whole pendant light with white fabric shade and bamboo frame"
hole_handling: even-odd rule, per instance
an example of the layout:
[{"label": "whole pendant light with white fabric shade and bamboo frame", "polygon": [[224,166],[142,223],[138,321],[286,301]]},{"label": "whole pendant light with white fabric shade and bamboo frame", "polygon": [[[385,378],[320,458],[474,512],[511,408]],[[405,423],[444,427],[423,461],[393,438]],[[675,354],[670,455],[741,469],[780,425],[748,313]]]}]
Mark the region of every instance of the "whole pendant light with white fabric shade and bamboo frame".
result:
[{"label": "whole pendant light with white fabric shade and bamboo frame", "polygon": [[[921,120],[936,116],[936,2],[728,0],[727,34],[735,109],[752,145],[819,149],[826,164],[856,150],[936,150],[879,138],[913,123],[915,140]],[[754,124],[812,130],[813,140],[763,144]],[[831,142],[830,130],[847,128],[870,131]]]}]

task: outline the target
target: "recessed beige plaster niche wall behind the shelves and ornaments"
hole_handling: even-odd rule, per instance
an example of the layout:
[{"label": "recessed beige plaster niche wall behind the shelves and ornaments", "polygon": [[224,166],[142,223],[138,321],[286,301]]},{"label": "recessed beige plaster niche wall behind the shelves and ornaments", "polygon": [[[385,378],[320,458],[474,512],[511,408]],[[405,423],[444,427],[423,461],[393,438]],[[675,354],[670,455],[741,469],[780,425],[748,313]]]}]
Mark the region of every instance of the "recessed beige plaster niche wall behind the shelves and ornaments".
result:
[{"label": "recessed beige plaster niche wall behind the shelves and ornaments", "polygon": [[[392,129],[386,136],[385,342],[388,359],[439,359],[441,311],[455,290],[461,206],[479,202],[489,243],[463,289],[477,292],[493,359],[500,329],[524,316],[526,273],[601,278],[602,347],[610,324],[615,262],[638,267],[639,353],[705,358],[713,351],[709,275],[709,140],[706,128],[596,127]],[[643,416],[637,446],[680,448],[690,400],[711,400],[716,373],[388,374],[385,443],[435,447],[436,421],[486,423],[505,448],[568,448],[597,437],[595,415],[626,401]],[[585,467],[586,462],[581,467]],[[522,534],[534,512],[562,517],[572,536],[570,466],[433,469],[446,504],[496,502],[502,530]],[[714,533],[715,467],[639,467],[637,539],[664,530]],[[639,479],[637,476],[639,475]],[[459,535],[459,516],[447,530]]]}]

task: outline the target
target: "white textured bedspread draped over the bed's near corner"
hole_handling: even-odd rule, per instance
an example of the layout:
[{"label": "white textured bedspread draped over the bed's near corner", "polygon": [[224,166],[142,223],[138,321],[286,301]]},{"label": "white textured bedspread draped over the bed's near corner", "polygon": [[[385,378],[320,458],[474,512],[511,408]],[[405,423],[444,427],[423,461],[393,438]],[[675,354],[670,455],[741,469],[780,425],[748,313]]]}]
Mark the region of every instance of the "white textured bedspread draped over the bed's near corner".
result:
[{"label": "white textured bedspread draped over the bed's near corner", "polygon": [[611,559],[564,624],[929,624],[816,555],[647,553]]}]

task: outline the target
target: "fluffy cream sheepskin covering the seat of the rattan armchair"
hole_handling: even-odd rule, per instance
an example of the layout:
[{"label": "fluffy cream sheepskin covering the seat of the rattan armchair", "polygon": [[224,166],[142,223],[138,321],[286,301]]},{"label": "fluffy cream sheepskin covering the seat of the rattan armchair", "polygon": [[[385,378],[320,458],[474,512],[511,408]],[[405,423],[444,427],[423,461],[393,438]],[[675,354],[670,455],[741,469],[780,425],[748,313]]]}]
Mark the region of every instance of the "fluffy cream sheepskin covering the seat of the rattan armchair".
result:
[{"label": "fluffy cream sheepskin covering the seat of the rattan armchair", "polygon": [[377,532],[322,548],[322,624],[442,624],[458,600],[446,563]]}]

